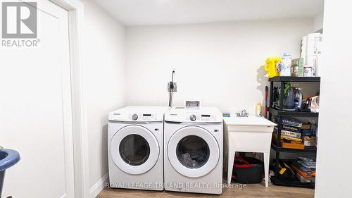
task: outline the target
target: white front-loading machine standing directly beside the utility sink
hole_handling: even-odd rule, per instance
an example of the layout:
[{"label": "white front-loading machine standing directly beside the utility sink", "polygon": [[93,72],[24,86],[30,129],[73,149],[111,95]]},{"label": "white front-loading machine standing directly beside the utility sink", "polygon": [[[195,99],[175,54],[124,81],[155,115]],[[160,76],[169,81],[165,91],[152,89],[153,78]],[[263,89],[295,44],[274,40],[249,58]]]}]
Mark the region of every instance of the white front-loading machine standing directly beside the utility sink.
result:
[{"label": "white front-loading machine standing directly beside the utility sink", "polygon": [[221,194],[222,113],[174,107],[165,113],[165,190]]}]

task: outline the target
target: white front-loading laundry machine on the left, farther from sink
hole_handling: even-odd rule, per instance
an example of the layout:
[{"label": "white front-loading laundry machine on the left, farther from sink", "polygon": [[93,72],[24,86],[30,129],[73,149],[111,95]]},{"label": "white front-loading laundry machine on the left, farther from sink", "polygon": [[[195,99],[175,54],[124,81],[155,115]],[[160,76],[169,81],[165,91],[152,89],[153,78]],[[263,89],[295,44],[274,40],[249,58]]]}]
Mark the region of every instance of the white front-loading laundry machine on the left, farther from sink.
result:
[{"label": "white front-loading laundry machine on the left, farther from sink", "polygon": [[164,190],[163,118],[168,107],[127,106],[108,115],[110,186]]}]

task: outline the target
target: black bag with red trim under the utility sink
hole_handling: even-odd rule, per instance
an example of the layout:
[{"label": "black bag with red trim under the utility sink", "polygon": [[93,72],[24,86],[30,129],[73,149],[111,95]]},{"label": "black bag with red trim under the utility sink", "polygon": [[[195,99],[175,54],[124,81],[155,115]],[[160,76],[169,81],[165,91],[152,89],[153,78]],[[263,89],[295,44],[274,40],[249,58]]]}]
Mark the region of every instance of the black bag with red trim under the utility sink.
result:
[{"label": "black bag with red trim under the utility sink", "polygon": [[235,157],[232,181],[245,184],[260,183],[263,171],[263,161],[252,157]]}]

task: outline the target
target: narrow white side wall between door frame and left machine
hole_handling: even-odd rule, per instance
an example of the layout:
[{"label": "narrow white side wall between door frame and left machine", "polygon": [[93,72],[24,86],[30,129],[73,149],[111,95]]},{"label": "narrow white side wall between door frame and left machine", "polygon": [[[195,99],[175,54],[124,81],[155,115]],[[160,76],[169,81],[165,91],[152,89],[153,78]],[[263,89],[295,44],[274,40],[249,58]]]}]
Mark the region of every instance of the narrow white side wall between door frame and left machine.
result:
[{"label": "narrow white side wall between door frame and left machine", "polygon": [[125,27],[93,1],[82,2],[89,190],[96,197],[108,177],[108,112],[125,106]]}]

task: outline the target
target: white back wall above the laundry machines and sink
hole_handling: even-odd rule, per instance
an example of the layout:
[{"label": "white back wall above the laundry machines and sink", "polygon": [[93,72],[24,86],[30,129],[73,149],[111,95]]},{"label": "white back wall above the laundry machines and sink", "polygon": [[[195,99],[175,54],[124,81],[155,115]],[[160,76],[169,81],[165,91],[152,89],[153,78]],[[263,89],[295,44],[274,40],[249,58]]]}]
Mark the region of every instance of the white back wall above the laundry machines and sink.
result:
[{"label": "white back wall above the laundry machines and sink", "polygon": [[254,113],[268,84],[265,58],[284,51],[298,57],[310,32],[313,18],[127,27],[126,102],[168,105],[175,68],[174,105],[196,98],[223,112]]}]

